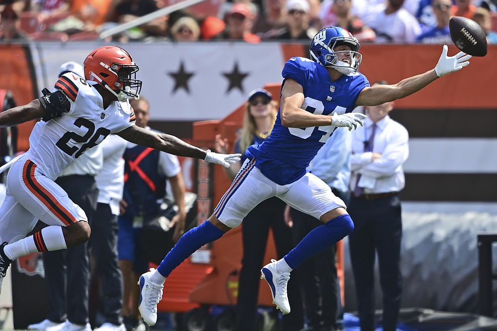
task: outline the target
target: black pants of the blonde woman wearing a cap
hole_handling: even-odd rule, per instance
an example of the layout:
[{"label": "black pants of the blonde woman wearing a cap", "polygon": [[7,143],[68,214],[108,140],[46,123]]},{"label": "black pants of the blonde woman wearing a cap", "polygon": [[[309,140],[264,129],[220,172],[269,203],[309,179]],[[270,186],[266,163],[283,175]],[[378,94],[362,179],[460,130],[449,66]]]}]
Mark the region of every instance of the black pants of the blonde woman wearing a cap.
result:
[{"label": "black pants of the blonde woman wearing a cap", "polygon": [[[242,224],[244,256],[238,287],[237,324],[235,331],[253,331],[257,308],[260,269],[266,250],[269,228],[272,228],[278,258],[293,247],[292,233],[283,219],[286,204],[277,197],[259,203]],[[298,282],[290,278],[288,300],[292,309],[283,315],[283,330],[296,331],[304,326],[302,295]]]}]

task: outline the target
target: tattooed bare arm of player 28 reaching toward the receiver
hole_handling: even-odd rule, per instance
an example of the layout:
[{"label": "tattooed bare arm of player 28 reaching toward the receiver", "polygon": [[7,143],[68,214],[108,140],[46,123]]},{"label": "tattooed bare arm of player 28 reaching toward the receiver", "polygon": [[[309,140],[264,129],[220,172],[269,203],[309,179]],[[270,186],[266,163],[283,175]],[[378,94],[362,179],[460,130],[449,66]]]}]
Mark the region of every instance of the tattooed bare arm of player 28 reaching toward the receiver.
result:
[{"label": "tattooed bare arm of player 28 reaching toward the receiver", "polygon": [[207,153],[198,147],[185,143],[177,137],[143,129],[136,125],[118,132],[117,135],[137,145],[151,147],[177,156],[204,160]]}]

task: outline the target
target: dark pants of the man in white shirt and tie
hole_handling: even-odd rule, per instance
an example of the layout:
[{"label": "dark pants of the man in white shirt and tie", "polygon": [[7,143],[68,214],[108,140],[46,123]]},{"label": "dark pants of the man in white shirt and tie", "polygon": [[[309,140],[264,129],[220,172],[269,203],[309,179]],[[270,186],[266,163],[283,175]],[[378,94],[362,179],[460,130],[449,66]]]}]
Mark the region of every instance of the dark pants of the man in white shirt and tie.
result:
[{"label": "dark pants of the man in white shirt and tie", "polygon": [[402,294],[402,215],[399,196],[374,201],[352,197],[347,210],[355,226],[348,238],[360,326],[366,330],[374,329],[376,253],[383,292],[383,330],[395,330]]}]

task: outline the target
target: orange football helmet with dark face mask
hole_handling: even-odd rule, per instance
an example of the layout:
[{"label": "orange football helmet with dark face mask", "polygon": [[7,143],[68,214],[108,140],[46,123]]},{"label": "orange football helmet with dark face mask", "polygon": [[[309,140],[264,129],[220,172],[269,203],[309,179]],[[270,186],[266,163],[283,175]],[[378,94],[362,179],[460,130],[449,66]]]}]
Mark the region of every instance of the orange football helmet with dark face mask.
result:
[{"label": "orange football helmet with dark face mask", "polygon": [[[84,60],[84,78],[96,81],[111,91],[119,101],[128,96],[140,97],[142,81],[136,79],[138,66],[131,55],[117,46],[103,46],[92,51]],[[116,93],[114,90],[119,90]]]}]

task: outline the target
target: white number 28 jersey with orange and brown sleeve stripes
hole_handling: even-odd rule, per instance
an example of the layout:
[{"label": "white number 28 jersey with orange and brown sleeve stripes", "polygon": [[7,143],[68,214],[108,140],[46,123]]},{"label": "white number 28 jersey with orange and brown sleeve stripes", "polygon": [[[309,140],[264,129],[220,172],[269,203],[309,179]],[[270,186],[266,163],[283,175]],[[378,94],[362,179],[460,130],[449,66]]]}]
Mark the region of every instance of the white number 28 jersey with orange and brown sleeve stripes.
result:
[{"label": "white number 28 jersey with orange and brown sleeve stripes", "polygon": [[61,76],[55,87],[64,92],[71,108],[61,117],[36,123],[26,152],[28,159],[52,180],[109,134],[135,124],[135,114],[127,100],[114,101],[103,109],[102,96],[73,73]]}]

